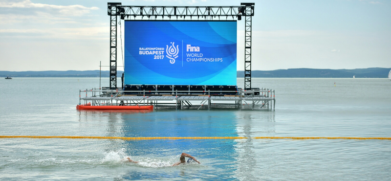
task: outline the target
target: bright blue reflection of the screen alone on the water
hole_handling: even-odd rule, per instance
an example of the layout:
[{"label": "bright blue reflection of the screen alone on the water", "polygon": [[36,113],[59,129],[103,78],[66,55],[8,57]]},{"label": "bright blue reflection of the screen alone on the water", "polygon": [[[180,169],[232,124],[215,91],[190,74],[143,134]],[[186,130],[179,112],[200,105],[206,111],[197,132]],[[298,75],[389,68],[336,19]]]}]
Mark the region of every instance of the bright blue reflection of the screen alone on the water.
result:
[{"label": "bright blue reflection of the screen alone on the water", "polygon": [[[123,134],[127,137],[238,136],[235,129],[236,116],[230,111],[155,111],[148,114],[123,114],[122,118],[125,123]],[[202,139],[128,141],[124,146],[134,158],[171,159],[174,163],[184,152],[200,160],[201,165],[145,169],[143,174],[132,170],[124,178],[166,179],[180,176],[194,179],[198,169],[203,173],[232,172],[235,169],[232,164],[236,162],[234,144],[233,140]],[[167,174],[166,171],[170,173]]]}]

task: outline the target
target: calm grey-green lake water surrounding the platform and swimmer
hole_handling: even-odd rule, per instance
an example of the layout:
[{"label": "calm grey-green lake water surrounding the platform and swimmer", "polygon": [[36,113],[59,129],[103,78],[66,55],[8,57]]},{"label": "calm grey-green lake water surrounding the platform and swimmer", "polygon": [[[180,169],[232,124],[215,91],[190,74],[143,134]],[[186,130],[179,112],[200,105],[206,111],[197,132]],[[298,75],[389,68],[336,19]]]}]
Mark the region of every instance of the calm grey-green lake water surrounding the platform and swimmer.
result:
[{"label": "calm grey-green lake water surrounding the platform and swimmer", "polygon": [[[150,113],[77,111],[79,90],[98,88],[99,78],[2,78],[0,85],[2,136],[391,137],[388,79],[253,78],[253,87],[276,90],[275,111]],[[201,164],[165,166],[183,152]],[[390,178],[389,140],[0,139],[0,180]]]}]

